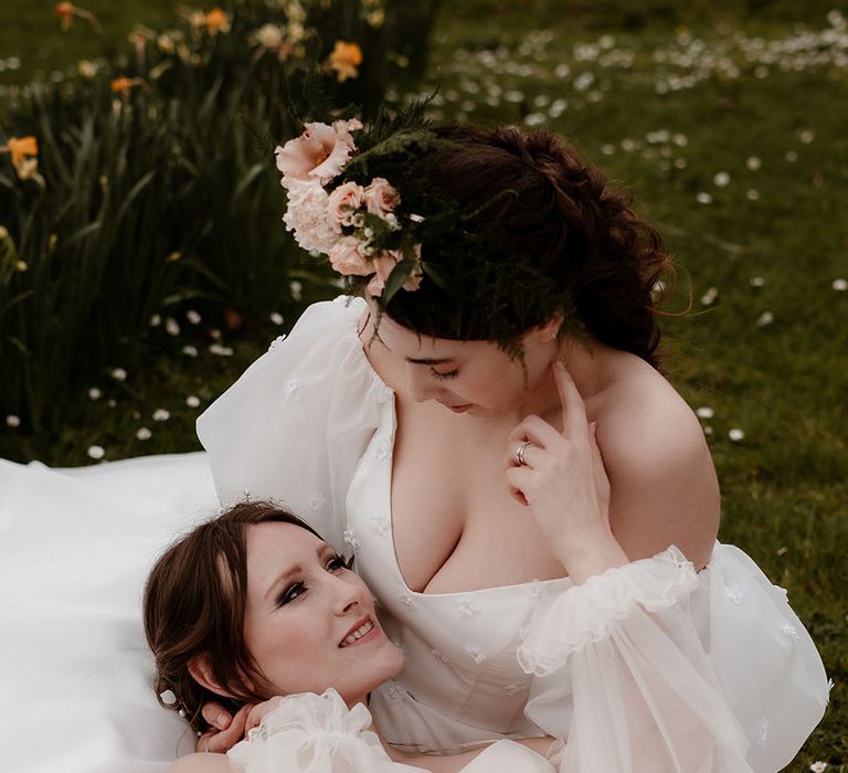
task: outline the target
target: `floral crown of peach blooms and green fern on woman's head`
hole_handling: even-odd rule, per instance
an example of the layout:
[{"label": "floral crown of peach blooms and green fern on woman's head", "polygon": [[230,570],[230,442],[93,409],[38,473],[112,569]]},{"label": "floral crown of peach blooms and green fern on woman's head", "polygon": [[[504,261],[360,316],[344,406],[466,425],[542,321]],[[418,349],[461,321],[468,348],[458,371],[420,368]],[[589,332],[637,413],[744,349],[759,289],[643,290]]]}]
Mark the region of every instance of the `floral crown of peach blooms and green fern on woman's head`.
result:
[{"label": "floral crown of peach blooms and green fern on woman's head", "polygon": [[[418,289],[425,274],[438,282],[421,245],[458,216],[444,202],[434,207],[420,176],[410,183],[410,162],[421,166],[422,151],[446,142],[423,123],[409,124],[409,115],[382,116],[369,130],[357,118],[310,123],[274,151],[288,194],[286,229],[339,274],[373,275],[368,292],[383,303],[400,289]],[[383,173],[372,174],[374,167]]]}]

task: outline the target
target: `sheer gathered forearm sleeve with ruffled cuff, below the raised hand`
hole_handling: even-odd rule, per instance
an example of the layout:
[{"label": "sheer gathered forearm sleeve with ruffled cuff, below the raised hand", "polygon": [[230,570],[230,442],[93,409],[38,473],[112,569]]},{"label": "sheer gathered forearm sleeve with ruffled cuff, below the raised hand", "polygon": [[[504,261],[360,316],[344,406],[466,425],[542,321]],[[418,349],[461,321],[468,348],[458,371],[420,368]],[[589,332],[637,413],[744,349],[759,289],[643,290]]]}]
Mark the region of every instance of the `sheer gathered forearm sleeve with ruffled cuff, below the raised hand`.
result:
[{"label": "sheer gathered forearm sleeve with ruffled cuff, below the raised hand", "polygon": [[537,676],[526,713],[566,739],[562,773],[751,770],[686,610],[697,585],[671,548],[566,590],[530,621],[518,653]]}]

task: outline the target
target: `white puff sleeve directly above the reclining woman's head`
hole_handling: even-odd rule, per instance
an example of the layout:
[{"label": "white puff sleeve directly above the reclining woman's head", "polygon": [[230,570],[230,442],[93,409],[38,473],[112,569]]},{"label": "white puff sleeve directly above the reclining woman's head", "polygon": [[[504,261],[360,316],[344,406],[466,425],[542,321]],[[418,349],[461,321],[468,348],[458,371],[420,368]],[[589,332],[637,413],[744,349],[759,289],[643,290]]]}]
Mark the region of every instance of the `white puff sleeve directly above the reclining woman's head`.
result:
[{"label": "white puff sleeve directly above the reclining woman's head", "polygon": [[223,506],[273,499],[343,549],[344,497],[394,395],[357,335],[362,299],[310,306],[199,419]]}]

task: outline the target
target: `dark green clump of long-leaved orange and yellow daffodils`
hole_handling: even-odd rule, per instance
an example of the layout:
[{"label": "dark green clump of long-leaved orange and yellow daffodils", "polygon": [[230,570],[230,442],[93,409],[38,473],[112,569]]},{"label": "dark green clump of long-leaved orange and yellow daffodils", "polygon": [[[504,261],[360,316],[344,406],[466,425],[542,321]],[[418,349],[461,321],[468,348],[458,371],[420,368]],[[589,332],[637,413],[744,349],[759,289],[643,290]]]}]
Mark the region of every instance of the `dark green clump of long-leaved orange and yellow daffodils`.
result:
[{"label": "dark green clump of long-leaved orange and yellow daffodils", "polygon": [[[290,280],[326,285],[280,222],[272,150],[299,133],[319,87],[321,108],[368,109],[424,55],[423,39],[413,52],[398,38],[405,6],[368,6],[242,0],[221,29],[190,13],[8,103],[0,142],[36,137],[43,184],[0,159],[0,413],[52,426],[60,384],[131,366],[165,307],[266,316],[297,307]],[[332,68],[337,40],[361,41],[359,76]]]}]

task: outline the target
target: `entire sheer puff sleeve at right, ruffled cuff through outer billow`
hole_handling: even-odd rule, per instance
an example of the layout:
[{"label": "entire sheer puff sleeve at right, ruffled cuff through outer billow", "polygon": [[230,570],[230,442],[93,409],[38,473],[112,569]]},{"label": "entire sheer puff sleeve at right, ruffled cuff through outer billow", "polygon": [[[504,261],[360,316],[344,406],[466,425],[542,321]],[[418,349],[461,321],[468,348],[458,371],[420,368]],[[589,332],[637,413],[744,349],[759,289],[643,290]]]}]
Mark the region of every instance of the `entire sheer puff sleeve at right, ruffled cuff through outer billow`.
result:
[{"label": "entire sheer puff sleeve at right, ruffled cuff through outer billow", "polygon": [[565,740],[562,773],[792,760],[824,712],[824,668],[785,595],[733,551],[717,544],[698,574],[672,546],[540,604],[518,658],[536,676],[528,718]]}]

